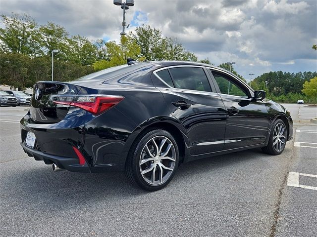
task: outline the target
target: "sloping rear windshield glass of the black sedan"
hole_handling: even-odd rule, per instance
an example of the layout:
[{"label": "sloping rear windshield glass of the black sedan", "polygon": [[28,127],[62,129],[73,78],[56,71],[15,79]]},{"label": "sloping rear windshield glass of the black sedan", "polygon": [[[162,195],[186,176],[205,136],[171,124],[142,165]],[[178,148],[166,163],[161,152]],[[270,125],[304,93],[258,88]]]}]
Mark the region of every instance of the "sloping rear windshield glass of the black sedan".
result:
[{"label": "sloping rear windshield glass of the black sedan", "polygon": [[148,65],[148,63],[135,63],[135,64],[132,64],[132,65],[124,64],[124,65],[121,65],[121,66],[107,68],[107,69],[104,69],[102,71],[89,74],[87,76],[79,78],[78,80],[113,78],[113,77],[117,77],[119,75],[128,73],[130,71],[142,68],[142,67],[144,67],[146,65]]}]

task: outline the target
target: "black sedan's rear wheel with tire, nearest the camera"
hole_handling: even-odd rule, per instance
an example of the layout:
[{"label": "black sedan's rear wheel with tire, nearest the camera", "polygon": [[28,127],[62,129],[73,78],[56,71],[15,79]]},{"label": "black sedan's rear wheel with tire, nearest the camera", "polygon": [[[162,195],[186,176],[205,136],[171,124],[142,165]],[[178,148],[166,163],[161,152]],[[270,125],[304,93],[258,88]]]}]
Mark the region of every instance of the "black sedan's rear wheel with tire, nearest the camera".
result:
[{"label": "black sedan's rear wheel with tire, nearest the camera", "polygon": [[178,147],[167,131],[149,131],[132,145],[125,172],[134,185],[148,191],[164,188],[173,178],[178,166]]}]

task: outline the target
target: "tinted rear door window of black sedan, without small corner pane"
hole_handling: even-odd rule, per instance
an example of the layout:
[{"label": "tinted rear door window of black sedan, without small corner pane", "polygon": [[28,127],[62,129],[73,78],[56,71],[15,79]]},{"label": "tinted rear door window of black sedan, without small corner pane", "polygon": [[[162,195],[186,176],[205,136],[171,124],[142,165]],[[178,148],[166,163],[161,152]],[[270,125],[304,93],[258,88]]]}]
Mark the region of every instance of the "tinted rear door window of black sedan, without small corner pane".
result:
[{"label": "tinted rear door window of black sedan, without small corner pane", "polygon": [[210,84],[202,68],[170,68],[169,72],[171,73],[175,88],[211,92]]}]

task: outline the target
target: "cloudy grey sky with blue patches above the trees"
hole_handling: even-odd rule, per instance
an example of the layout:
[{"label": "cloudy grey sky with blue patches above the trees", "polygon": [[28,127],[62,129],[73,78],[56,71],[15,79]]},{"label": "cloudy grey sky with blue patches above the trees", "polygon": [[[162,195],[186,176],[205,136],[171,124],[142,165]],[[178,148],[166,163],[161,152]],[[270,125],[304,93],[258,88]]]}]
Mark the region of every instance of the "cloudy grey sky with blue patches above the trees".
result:
[{"label": "cloudy grey sky with blue patches above the trees", "polygon": [[[91,40],[118,40],[122,31],[113,0],[0,0],[0,14],[11,12]],[[135,0],[126,22],[126,31],[149,24],[215,65],[235,62],[246,79],[317,71],[317,0]]]}]

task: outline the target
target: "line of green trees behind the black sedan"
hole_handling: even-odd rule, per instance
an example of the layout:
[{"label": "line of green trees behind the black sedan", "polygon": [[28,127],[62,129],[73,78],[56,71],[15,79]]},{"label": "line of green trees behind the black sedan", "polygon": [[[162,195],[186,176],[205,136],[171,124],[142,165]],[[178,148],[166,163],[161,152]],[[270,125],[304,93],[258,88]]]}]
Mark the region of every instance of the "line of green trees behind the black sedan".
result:
[{"label": "line of green trees behind the black sedan", "polygon": [[[72,36],[60,25],[52,22],[39,25],[26,14],[1,15],[1,23],[4,28],[0,28],[0,83],[20,89],[31,87],[39,80],[51,80],[53,49],[58,50],[54,55],[53,75],[57,81],[69,81],[122,65],[127,58],[211,64],[208,58],[198,60],[176,38],[163,37],[160,30],[149,25],[137,27],[116,42]],[[230,70],[226,63],[219,67]],[[233,67],[231,71],[246,81]],[[251,86],[266,90],[269,98],[294,101],[303,97],[304,83],[316,76],[316,72],[269,72],[255,78]]]}]

